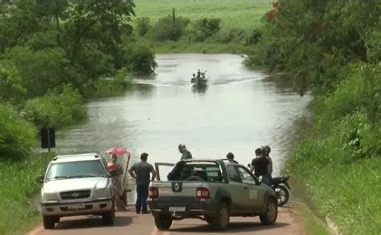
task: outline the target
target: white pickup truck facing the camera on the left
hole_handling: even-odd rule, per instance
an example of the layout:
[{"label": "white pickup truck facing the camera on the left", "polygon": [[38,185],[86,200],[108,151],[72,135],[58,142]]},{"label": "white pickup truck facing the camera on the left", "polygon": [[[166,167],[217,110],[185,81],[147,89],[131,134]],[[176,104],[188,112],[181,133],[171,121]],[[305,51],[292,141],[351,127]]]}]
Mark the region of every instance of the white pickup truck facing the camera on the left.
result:
[{"label": "white pickup truck facing the camera on the left", "polygon": [[58,155],[48,165],[43,183],[41,206],[43,226],[53,229],[61,217],[99,214],[103,224],[115,219],[112,183],[106,160],[97,154]]}]

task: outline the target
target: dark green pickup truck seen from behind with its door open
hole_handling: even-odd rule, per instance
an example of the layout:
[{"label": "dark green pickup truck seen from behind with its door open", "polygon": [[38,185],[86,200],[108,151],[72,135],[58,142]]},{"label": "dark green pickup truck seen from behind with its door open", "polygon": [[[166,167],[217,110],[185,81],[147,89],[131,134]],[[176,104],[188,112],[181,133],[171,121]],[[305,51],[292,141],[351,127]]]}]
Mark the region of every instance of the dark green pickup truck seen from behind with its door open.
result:
[{"label": "dark green pickup truck seen from behind with its door open", "polygon": [[[150,183],[148,205],[157,229],[167,230],[172,221],[198,218],[224,230],[231,216],[260,216],[262,224],[275,223],[276,196],[245,166],[227,159],[190,159],[175,164],[167,175]],[[159,175],[159,174],[158,174]]]}]

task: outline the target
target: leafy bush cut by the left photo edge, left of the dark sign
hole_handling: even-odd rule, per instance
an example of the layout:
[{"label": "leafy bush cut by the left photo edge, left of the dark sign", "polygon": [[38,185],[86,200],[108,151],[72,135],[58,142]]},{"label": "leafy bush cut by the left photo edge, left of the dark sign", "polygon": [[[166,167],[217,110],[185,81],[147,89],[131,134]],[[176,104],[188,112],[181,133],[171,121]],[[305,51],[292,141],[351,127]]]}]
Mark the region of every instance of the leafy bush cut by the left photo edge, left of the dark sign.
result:
[{"label": "leafy bush cut by the left photo edge, left of the dark sign", "polygon": [[0,103],[0,158],[17,158],[28,154],[34,144],[35,129],[16,110]]}]

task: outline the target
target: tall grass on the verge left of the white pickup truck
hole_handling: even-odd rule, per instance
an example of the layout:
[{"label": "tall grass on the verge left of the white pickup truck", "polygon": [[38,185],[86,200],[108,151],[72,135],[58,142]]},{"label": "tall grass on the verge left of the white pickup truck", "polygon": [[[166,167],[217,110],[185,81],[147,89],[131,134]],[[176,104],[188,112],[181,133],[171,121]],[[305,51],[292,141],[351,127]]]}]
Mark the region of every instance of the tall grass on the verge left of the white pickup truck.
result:
[{"label": "tall grass on the verge left of the white pickup truck", "polygon": [[35,178],[51,159],[50,154],[20,161],[0,158],[0,234],[23,234],[41,220],[34,200],[41,184]]}]

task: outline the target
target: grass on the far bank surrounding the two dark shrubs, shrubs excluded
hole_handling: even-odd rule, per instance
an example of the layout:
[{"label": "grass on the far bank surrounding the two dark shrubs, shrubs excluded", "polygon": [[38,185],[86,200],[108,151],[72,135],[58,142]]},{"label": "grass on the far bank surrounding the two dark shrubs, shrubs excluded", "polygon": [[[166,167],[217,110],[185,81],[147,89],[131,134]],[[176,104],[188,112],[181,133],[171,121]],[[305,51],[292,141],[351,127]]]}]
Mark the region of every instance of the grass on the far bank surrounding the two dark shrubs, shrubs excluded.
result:
[{"label": "grass on the far bank surrounding the two dark shrubs, shrubs excluded", "polygon": [[[245,52],[245,39],[263,25],[263,15],[271,9],[271,0],[136,0],[136,18],[149,17],[150,24],[172,14],[188,18],[191,23],[199,19],[221,19],[221,30],[205,42],[189,42],[186,36],[178,42],[148,41],[155,52]],[[228,40],[222,40],[229,38]],[[224,42],[221,42],[224,41]],[[227,42],[226,42],[227,41]]]}]

